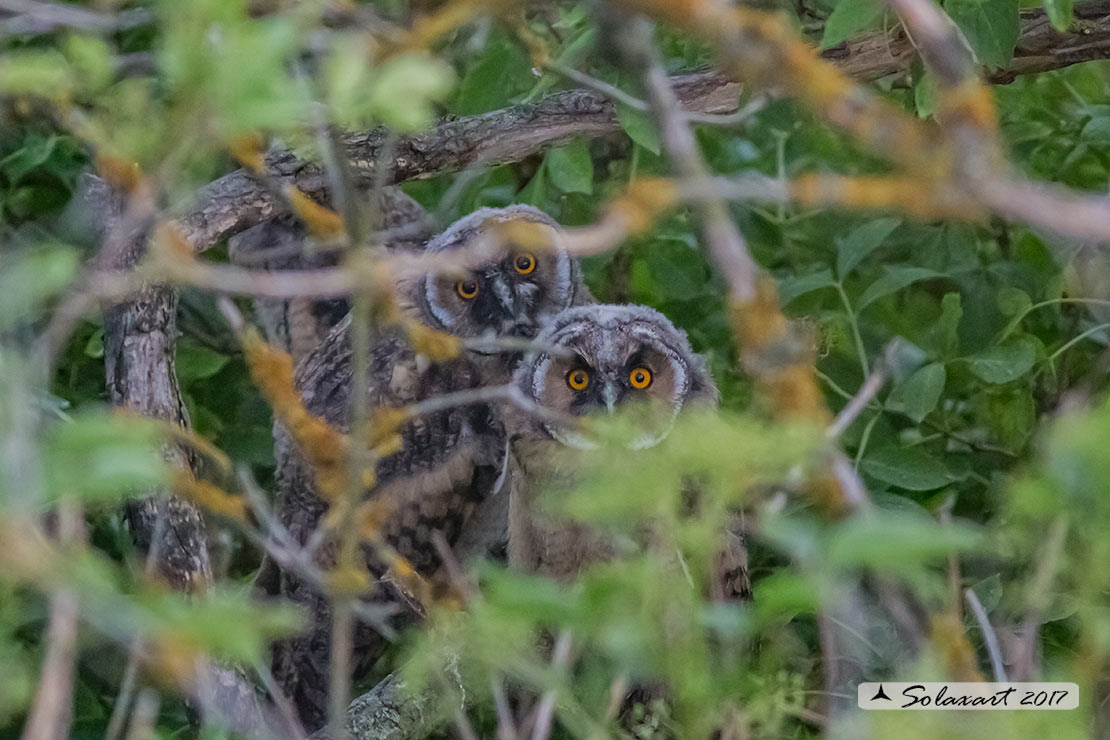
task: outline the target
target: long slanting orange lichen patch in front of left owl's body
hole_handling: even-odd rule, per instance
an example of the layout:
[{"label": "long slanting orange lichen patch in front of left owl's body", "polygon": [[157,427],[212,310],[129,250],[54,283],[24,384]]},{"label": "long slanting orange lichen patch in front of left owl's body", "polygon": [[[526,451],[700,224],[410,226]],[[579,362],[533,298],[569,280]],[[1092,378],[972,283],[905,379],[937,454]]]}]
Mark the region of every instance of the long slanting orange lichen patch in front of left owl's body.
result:
[{"label": "long slanting orange lichen patch in front of left owl's body", "polygon": [[292,357],[266,344],[253,326],[244,327],[240,341],[251,381],[315,472],[316,491],[324,500],[337,500],[346,490],[350,438],[304,407]]}]

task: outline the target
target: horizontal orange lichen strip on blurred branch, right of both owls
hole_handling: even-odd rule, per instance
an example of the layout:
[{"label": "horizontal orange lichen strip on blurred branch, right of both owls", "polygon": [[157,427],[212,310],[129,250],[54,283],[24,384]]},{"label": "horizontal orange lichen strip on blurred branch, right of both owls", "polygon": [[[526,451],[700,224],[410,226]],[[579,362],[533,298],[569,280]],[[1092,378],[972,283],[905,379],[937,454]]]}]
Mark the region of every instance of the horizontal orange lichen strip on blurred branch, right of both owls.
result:
[{"label": "horizontal orange lichen strip on blurred branch, right of both owls", "polygon": [[950,180],[808,174],[791,183],[789,195],[790,200],[807,207],[889,209],[919,221],[981,221],[986,217],[976,199]]}]

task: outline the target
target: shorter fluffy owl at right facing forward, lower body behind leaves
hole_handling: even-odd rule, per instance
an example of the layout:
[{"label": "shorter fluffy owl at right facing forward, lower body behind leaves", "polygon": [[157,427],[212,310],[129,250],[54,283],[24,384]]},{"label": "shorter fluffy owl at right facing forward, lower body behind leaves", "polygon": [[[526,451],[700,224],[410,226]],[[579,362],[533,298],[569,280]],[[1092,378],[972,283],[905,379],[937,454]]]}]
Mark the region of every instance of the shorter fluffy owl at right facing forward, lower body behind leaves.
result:
[{"label": "shorter fluffy owl at right facing forward, lower body behind leaves", "polygon": [[[715,408],[717,387],[705,358],[663,314],[645,306],[593,305],[563,312],[537,337],[537,351],[517,367],[513,384],[545,409],[564,417],[613,413],[638,403],[653,413],[633,449],[649,448],[669,434],[675,418],[695,407]],[[557,419],[509,412],[512,450],[508,516],[509,562],[515,568],[574,578],[584,567],[613,556],[610,543],[581,523],[536,510],[537,489],[573,485],[559,447],[589,448],[591,440]],[[747,592],[747,562],[738,530],[725,533],[713,575],[713,596]]]}]

